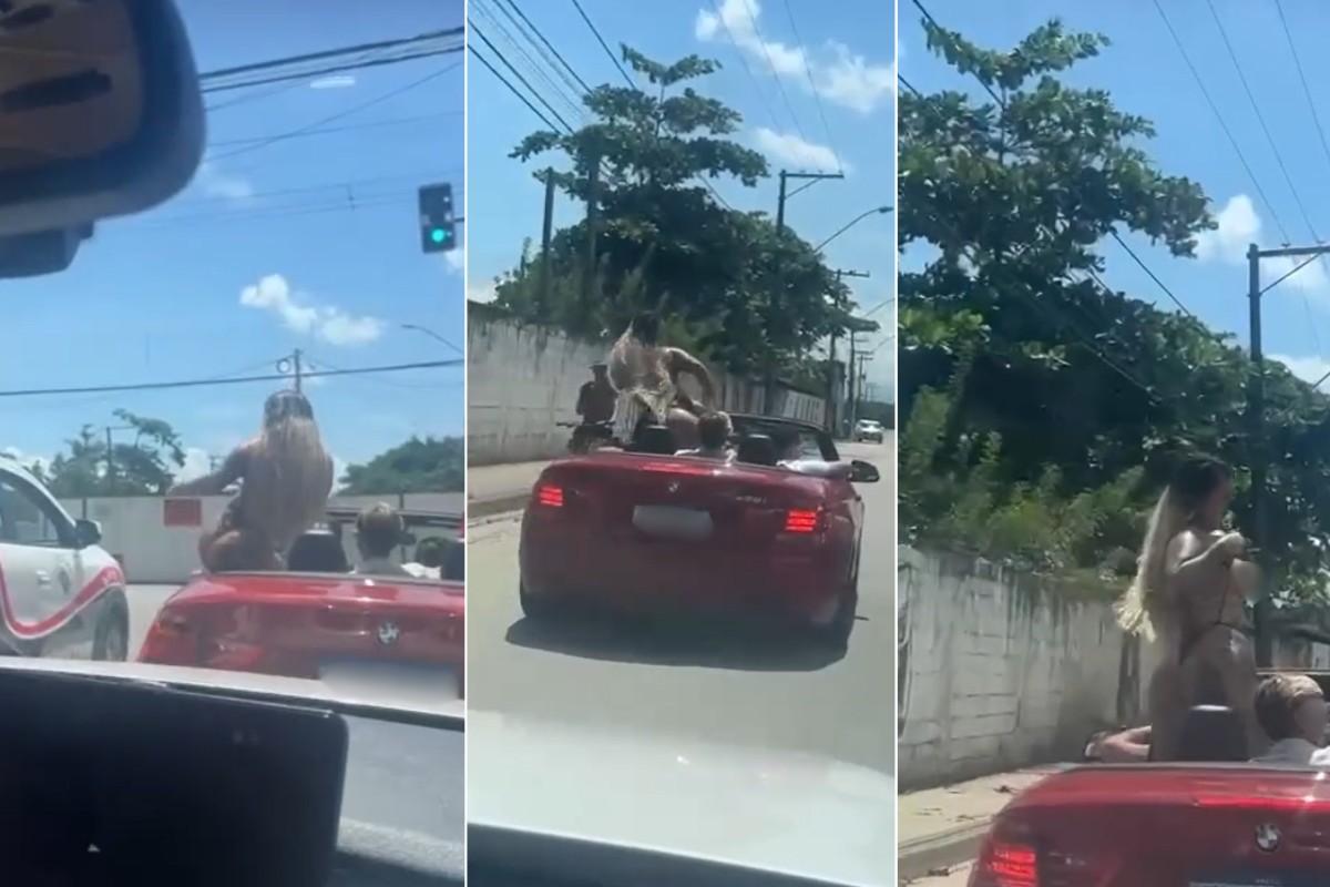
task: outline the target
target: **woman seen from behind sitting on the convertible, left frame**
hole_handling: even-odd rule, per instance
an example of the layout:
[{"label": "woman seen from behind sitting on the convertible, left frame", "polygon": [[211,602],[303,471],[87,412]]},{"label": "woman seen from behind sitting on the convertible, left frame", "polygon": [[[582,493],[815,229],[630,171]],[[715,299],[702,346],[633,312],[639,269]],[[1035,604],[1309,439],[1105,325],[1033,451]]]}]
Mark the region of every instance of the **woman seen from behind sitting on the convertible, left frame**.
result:
[{"label": "woman seen from behind sitting on the convertible, left frame", "polygon": [[198,541],[203,568],[281,569],[291,543],[318,523],[332,492],[332,457],[319,439],[314,407],[298,391],[278,391],[263,404],[263,427],[221,468],[168,491],[168,496],[241,492],[217,528]]}]

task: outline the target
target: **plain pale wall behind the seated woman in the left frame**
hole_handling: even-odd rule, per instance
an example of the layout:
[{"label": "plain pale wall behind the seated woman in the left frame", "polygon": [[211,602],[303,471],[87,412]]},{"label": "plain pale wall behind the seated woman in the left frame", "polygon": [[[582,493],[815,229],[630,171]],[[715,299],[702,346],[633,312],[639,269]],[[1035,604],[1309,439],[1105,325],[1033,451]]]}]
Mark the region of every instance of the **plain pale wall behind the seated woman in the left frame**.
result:
[{"label": "plain pale wall behind the seated woman in the left frame", "polygon": [[[202,497],[201,527],[164,525],[165,501],[157,496],[116,499],[65,499],[65,511],[73,517],[101,523],[102,548],[121,559],[130,582],[184,582],[198,569],[198,537],[217,524],[229,496]],[[339,496],[330,504],[363,508],[387,501],[398,508],[419,508],[463,513],[462,493],[406,493],[400,496]]]}]

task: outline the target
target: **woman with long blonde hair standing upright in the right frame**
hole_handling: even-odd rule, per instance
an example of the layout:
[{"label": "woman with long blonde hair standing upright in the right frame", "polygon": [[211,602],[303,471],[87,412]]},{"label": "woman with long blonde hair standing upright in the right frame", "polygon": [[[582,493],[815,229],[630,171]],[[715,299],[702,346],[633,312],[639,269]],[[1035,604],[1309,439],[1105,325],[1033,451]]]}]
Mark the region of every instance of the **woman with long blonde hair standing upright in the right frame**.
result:
[{"label": "woman with long blonde hair standing upright in the right frame", "polygon": [[1150,676],[1150,757],[1173,761],[1193,705],[1228,705],[1242,717],[1249,754],[1269,741],[1256,719],[1256,657],[1242,632],[1245,597],[1257,586],[1241,533],[1225,532],[1233,472],[1189,456],[1160,496],[1136,578],[1117,605],[1124,630],[1161,648]]}]

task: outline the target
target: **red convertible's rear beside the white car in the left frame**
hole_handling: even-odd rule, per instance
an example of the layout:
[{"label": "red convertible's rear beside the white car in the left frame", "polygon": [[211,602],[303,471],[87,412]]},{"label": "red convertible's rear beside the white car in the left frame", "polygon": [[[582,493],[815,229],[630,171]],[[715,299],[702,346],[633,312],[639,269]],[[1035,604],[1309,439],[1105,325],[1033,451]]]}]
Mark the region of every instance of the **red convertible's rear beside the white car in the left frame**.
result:
[{"label": "red convertible's rear beside the white car in the left frame", "polygon": [[[339,517],[330,513],[330,527]],[[411,535],[419,515],[403,517]],[[450,520],[456,535],[462,517]],[[438,529],[439,516],[427,523]],[[306,533],[297,547],[299,559],[317,563],[317,570],[298,567],[293,547],[290,572],[192,577],[162,605],[138,661],[302,678],[382,678],[432,688],[434,696],[439,688],[464,696],[460,581],[351,572],[331,528]]]}]

